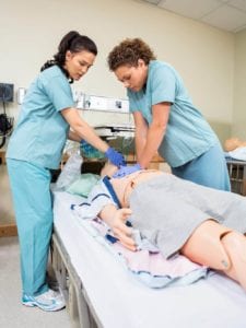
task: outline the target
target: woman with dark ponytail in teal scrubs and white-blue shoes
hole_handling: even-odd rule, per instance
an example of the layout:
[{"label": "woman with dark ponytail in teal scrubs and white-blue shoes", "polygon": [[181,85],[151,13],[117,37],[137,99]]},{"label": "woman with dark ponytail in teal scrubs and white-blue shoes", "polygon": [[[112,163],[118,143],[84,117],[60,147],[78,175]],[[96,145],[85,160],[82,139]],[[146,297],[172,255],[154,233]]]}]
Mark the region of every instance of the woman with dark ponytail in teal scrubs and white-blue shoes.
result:
[{"label": "woman with dark ponytail in teal scrubs and white-blue shoes", "polygon": [[22,303],[44,311],[65,307],[61,295],[47,285],[46,267],[52,230],[50,169],[59,167],[67,138],[85,140],[113,164],[125,165],[122,155],[97,137],[74,107],[70,83],[87,72],[96,55],[96,45],[87,36],[74,31],[63,36],[54,59],[31,84],[8,147],[21,246]]}]

